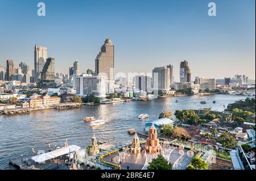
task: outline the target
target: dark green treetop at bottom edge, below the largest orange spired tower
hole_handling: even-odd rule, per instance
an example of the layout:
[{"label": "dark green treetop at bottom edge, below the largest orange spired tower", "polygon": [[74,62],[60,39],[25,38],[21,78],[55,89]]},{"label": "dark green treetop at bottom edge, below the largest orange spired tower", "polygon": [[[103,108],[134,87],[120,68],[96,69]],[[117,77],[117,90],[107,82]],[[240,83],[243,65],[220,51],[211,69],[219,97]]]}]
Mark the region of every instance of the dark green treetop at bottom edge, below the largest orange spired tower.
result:
[{"label": "dark green treetop at bottom edge, below the largest orange spired tower", "polygon": [[158,157],[154,158],[151,163],[149,163],[148,170],[171,170],[172,165],[168,163],[167,159],[163,157],[163,155],[158,155]]}]

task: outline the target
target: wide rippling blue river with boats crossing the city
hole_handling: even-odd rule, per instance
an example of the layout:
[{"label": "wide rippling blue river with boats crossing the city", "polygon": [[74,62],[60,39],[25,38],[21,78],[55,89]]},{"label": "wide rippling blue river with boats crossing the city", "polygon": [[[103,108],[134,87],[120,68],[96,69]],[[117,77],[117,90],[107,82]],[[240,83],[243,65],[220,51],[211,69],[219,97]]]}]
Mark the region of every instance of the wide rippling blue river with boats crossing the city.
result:
[{"label": "wide rippling blue river with boats crossing the city", "polygon": [[[207,104],[200,104],[202,96],[180,96],[147,101],[132,101],[130,103],[101,104],[97,106],[82,106],[72,110],[44,110],[31,112],[30,115],[3,116],[0,115],[0,169],[13,169],[9,166],[9,154],[19,157],[20,154],[31,155],[32,148],[36,151],[47,149],[48,144],[64,146],[69,144],[85,148],[96,134],[98,140],[109,140],[117,145],[130,142],[132,136],[127,129],[135,128],[143,132],[144,124],[158,119],[163,110],[184,110],[212,108],[224,111],[224,106],[245,99],[240,95],[204,95]],[[176,103],[175,100],[180,102]],[[216,100],[216,104],[213,104]],[[141,113],[150,115],[145,121],[138,120]],[[97,128],[84,123],[83,117],[94,116],[106,120]]]}]

